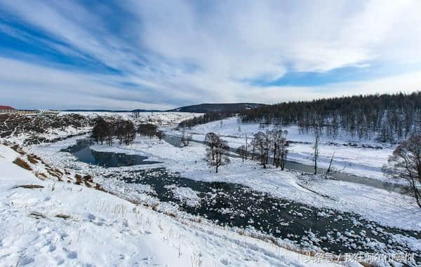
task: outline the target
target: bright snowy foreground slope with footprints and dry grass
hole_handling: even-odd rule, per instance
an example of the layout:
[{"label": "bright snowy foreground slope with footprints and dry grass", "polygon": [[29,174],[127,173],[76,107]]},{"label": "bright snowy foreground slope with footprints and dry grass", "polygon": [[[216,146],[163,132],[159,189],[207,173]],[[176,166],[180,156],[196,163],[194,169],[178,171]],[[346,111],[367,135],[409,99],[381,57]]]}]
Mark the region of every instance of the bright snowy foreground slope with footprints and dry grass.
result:
[{"label": "bright snowy foreground slope with footprints and dry grass", "polygon": [[[41,181],[12,163],[18,156],[0,145],[1,266],[336,265],[85,186]],[[34,184],[43,187],[16,187]]]}]

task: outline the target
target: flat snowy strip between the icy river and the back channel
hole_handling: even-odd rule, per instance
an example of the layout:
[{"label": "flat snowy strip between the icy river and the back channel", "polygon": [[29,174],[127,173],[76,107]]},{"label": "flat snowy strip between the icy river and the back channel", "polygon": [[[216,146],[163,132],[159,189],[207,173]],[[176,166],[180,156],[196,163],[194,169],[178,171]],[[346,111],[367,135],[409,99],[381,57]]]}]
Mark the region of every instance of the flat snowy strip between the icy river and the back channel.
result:
[{"label": "flat snowy strip between the icy river and the back channel", "polygon": [[[34,151],[48,159],[48,162],[60,167],[72,166],[77,170],[106,176],[108,169],[81,163],[68,153],[58,152],[60,149],[75,144],[76,139],[77,137],[74,137],[50,146],[35,147]],[[193,142],[190,146],[179,148],[165,141],[137,137],[135,143],[130,146],[94,145],[91,149],[147,156],[148,160],[161,162],[154,166],[166,167],[171,172],[180,172],[182,177],[203,182],[243,184],[277,198],[286,198],[314,207],[329,207],[361,214],[364,218],[376,221],[382,226],[415,231],[421,228],[420,208],[417,207],[415,199],[410,196],[351,182],[313,179],[301,176],[298,172],[281,171],[272,167],[265,170],[256,162],[242,163],[240,158],[232,158],[232,163],[220,167],[218,173],[215,173],[214,168],[206,163],[206,148],[203,144]],[[136,168],[149,167],[151,165],[136,166]],[[125,170],[131,168],[133,167],[126,167]],[[112,181],[104,179],[104,182],[107,184]],[[118,190],[118,188],[114,189]]]}]

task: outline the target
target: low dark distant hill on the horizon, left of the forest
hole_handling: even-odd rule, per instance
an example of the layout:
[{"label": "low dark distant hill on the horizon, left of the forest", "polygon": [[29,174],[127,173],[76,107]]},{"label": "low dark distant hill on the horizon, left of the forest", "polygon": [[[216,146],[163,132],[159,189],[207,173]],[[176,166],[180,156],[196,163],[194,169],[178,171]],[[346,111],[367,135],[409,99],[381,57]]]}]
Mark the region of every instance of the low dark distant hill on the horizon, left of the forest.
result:
[{"label": "low dark distant hill on the horizon, left of the forest", "polygon": [[192,106],[179,107],[177,109],[171,109],[168,111],[175,112],[197,112],[197,113],[208,113],[208,112],[231,112],[236,113],[239,111],[254,109],[256,107],[265,106],[265,104],[256,103],[222,103],[222,104],[194,104]]}]

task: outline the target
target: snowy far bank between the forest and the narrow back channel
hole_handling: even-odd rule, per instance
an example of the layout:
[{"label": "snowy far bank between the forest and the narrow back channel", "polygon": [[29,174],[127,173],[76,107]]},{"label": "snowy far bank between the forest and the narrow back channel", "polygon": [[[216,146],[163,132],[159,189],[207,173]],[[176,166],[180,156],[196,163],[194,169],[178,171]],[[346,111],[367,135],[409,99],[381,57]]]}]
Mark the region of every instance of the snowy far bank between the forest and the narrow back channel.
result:
[{"label": "snowy far bank between the forest and the narrow back channel", "polygon": [[[221,123],[222,122],[222,123]],[[191,130],[193,139],[203,141],[206,133],[215,132],[227,140],[229,146],[234,148],[246,144],[246,135],[248,142],[253,138],[253,134],[258,131],[270,130],[275,125],[266,125],[260,128],[259,123],[241,123],[239,118],[226,118],[222,121],[214,121],[203,125],[196,125]],[[296,125],[281,126],[282,130],[288,130],[288,140],[291,141],[288,147],[288,160],[293,160],[306,165],[313,165],[314,135],[300,134]],[[171,130],[168,133],[180,135],[178,130]],[[356,144],[356,147],[349,146],[349,143]],[[364,148],[363,146],[373,146],[375,148]],[[337,138],[328,138],[326,135],[321,137],[321,146],[319,150],[319,167],[328,167],[330,157],[335,153],[334,165],[338,170],[349,174],[356,174],[361,177],[380,179],[383,182],[403,184],[404,181],[389,179],[382,173],[382,166],[387,164],[387,159],[394,150],[395,146],[390,144],[380,144],[373,140],[359,140],[358,137],[349,135],[338,135]]]}]

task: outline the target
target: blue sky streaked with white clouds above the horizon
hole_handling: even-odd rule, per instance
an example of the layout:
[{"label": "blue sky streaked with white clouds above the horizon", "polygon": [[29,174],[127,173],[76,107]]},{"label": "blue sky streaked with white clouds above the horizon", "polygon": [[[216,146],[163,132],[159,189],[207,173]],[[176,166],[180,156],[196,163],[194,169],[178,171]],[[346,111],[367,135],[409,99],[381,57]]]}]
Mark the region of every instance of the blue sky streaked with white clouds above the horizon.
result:
[{"label": "blue sky streaked with white clouds above the horizon", "polygon": [[0,1],[0,104],[170,109],[409,93],[421,89],[420,10],[417,0]]}]

